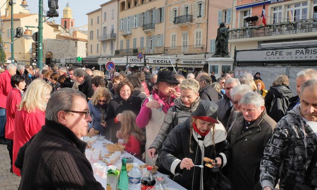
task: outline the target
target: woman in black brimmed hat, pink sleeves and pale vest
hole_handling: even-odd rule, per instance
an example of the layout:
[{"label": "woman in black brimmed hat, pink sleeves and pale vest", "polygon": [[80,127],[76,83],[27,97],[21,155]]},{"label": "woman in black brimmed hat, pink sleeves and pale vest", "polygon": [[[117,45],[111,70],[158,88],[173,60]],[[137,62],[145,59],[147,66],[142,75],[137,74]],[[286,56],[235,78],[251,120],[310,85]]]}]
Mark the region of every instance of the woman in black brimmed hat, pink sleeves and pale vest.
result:
[{"label": "woman in black brimmed hat, pink sleeves and pale vest", "polygon": [[[167,110],[174,105],[176,98],[175,86],[179,84],[171,71],[161,71],[157,74],[157,81],[153,84],[152,94],[146,98],[137,117],[137,125],[146,127],[147,142],[145,150],[150,148],[156,135],[161,129]],[[146,155],[146,163],[154,165],[154,157]]]}]

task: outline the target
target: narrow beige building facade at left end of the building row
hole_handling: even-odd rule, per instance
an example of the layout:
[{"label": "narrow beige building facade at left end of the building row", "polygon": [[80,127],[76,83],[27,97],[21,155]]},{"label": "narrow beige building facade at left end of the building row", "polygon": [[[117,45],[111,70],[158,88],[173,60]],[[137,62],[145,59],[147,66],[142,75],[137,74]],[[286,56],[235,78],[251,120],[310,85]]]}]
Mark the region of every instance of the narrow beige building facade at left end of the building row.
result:
[{"label": "narrow beige building facade at left end of the building row", "polygon": [[101,8],[86,14],[88,16],[88,43],[87,57],[101,56]]}]

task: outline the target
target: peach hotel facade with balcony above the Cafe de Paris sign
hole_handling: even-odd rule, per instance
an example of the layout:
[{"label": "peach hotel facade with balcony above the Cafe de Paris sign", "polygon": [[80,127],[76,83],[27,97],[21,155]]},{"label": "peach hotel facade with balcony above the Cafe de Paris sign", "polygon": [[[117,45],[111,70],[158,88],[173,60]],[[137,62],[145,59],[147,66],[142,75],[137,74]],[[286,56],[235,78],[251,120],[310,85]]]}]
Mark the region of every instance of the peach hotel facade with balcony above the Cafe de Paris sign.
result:
[{"label": "peach hotel facade with balcony above the Cafe de Paris sign", "polygon": [[288,42],[317,39],[317,13],[313,10],[316,0],[265,1],[266,26],[261,18],[263,4],[264,1],[234,1],[231,52],[235,47],[237,50],[273,48],[274,43],[289,46]]}]

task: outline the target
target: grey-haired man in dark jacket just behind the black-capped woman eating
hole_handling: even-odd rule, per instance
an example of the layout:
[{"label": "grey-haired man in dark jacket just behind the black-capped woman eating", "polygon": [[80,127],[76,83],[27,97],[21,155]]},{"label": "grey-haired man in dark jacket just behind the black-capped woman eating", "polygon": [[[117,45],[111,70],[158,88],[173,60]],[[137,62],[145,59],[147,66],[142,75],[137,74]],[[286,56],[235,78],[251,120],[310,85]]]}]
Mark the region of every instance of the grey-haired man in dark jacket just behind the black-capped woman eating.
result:
[{"label": "grey-haired man in dark jacket just behind the black-capped woman eating", "polygon": [[239,85],[240,81],[237,78],[228,78],[224,82],[224,91],[223,97],[217,102],[218,105],[218,120],[223,124],[223,126],[227,126],[227,122],[230,116],[230,111],[232,109],[232,101],[230,93],[232,88]]}]

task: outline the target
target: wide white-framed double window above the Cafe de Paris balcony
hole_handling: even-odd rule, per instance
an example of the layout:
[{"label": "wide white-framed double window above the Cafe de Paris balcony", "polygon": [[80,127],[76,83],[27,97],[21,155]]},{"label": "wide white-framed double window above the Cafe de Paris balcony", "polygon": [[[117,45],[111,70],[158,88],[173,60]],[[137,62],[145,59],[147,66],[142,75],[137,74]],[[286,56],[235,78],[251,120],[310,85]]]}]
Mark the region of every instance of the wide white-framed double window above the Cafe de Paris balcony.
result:
[{"label": "wide white-framed double window above the Cafe de Paris balcony", "polygon": [[307,2],[287,6],[287,22],[307,19]]}]

